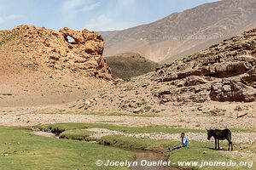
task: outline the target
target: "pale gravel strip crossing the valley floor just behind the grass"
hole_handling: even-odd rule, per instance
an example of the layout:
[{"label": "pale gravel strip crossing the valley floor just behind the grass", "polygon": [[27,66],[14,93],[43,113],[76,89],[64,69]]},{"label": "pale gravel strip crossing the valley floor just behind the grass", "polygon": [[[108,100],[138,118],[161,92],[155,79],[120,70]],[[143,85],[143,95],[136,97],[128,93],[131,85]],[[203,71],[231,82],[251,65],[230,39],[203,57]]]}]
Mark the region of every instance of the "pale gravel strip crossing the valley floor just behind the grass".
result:
[{"label": "pale gravel strip crossing the valley floor just behind the grass", "polygon": [[9,112],[0,114],[0,124],[5,126],[32,126],[37,124],[55,122],[113,122],[114,124],[125,124],[130,126],[146,125],[166,125],[175,127],[205,128],[205,127],[237,127],[255,128],[255,118],[246,120],[232,120],[225,117],[214,117],[212,122],[208,122],[208,117],[197,117],[191,119],[188,116],[157,116],[157,117],[137,117],[137,116],[93,116],[93,115],[73,115],[73,114],[35,114],[35,113]]}]

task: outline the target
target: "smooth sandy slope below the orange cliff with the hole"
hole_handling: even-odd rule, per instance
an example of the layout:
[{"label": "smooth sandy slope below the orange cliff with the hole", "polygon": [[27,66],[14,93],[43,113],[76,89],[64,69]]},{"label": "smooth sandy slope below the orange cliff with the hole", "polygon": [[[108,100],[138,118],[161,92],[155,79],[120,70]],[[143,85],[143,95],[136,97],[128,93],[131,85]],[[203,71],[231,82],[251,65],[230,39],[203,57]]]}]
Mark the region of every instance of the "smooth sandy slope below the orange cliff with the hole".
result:
[{"label": "smooth sandy slope below the orange cliff with the hole", "polygon": [[[1,75],[0,109],[2,107],[65,104],[98,94],[110,83],[90,77],[74,77],[52,72]],[[95,88],[95,86],[97,88]]]}]

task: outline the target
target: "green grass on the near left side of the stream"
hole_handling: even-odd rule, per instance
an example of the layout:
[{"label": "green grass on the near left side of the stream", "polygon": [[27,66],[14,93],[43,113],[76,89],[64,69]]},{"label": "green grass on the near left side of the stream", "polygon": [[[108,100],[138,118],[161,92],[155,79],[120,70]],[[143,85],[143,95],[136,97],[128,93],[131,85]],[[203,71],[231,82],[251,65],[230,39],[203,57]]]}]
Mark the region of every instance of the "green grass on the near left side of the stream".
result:
[{"label": "green grass on the near left side of the stream", "polygon": [[[133,160],[125,150],[76,140],[37,136],[24,127],[0,127],[0,169],[94,170],[96,160]],[[101,167],[101,169],[127,169]]]}]

